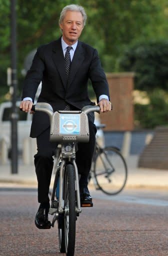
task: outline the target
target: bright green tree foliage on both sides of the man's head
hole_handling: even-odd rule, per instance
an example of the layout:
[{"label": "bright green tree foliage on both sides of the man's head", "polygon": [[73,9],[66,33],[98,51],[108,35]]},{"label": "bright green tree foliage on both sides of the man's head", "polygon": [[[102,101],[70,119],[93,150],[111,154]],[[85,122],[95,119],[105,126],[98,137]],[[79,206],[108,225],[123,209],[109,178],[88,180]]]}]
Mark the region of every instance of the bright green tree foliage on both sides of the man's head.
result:
[{"label": "bright green tree foliage on both sides of the man's head", "polygon": [[[119,70],[118,58],[132,42],[166,38],[168,33],[167,0],[17,0],[19,90],[25,56],[38,45],[60,36],[59,13],[70,3],[85,8],[88,19],[80,39],[98,49],[108,72]],[[0,95],[8,89],[6,68],[10,66],[10,43],[10,0],[0,0]]]}]

